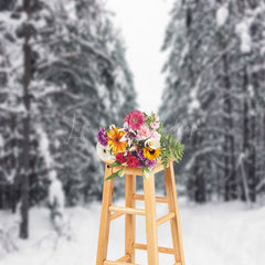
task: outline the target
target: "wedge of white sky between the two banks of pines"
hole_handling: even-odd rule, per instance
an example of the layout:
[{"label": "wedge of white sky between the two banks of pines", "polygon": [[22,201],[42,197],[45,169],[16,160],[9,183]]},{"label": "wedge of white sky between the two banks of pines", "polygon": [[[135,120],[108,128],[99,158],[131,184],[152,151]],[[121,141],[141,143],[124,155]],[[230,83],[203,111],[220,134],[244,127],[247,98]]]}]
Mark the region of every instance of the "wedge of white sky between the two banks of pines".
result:
[{"label": "wedge of white sky between the two banks of pines", "polygon": [[161,68],[166,53],[160,53],[169,11],[173,0],[106,0],[116,15],[127,46],[127,61],[134,74],[139,109],[157,112],[163,89]]}]

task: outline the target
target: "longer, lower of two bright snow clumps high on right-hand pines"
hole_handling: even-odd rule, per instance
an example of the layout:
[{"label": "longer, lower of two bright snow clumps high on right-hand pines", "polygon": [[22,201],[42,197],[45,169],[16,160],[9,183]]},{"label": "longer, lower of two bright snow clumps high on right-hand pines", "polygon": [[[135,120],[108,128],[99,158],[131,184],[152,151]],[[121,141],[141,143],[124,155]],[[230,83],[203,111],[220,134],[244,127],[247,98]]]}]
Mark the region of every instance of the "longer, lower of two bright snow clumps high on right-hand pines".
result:
[{"label": "longer, lower of two bright snow clumps high on right-hand pines", "polygon": [[252,39],[248,32],[248,22],[242,21],[235,26],[235,32],[241,39],[241,52],[248,53],[251,52],[252,47]]}]

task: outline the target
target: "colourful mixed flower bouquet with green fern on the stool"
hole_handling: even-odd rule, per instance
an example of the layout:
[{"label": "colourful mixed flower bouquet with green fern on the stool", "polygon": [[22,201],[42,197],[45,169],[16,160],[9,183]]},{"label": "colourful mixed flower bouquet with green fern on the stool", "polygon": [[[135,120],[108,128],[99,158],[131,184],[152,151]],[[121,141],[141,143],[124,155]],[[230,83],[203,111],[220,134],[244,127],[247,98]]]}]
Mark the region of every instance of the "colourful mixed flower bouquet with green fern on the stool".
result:
[{"label": "colourful mixed flower bouquet with green fern on the stool", "polygon": [[159,123],[155,113],[147,115],[132,110],[125,117],[123,128],[115,125],[102,127],[97,140],[99,158],[104,161],[113,160],[110,167],[121,167],[106,180],[123,177],[126,167],[142,168],[142,176],[147,179],[159,159],[166,169],[170,158],[179,162],[183,156],[183,145],[179,140],[174,141],[170,132],[163,135],[162,123]]}]

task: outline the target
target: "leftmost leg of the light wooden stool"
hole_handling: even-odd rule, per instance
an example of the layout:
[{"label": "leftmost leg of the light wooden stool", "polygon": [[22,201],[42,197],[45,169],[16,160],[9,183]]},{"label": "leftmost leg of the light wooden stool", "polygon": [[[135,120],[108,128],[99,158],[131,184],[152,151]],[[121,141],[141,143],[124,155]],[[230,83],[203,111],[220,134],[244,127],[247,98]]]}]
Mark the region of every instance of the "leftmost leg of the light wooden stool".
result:
[{"label": "leftmost leg of the light wooden stool", "polygon": [[[105,179],[113,172],[112,168],[105,168]],[[113,203],[114,179],[104,181],[103,199],[102,199],[102,215],[97,243],[97,259],[96,265],[103,265],[107,258],[108,234],[110,224],[110,212],[108,208]]]}]

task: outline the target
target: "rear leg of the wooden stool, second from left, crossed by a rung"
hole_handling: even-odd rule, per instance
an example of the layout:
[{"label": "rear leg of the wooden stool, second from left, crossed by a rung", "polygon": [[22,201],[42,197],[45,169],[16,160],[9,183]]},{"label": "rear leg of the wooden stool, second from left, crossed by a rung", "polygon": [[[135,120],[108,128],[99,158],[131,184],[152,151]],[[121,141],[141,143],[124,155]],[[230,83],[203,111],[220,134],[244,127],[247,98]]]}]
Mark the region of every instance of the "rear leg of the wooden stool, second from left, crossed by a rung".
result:
[{"label": "rear leg of the wooden stool, second from left, crossed by a rung", "polygon": [[[136,176],[126,174],[125,177],[125,206],[135,208],[135,200],[132,198],[136,192]],[[125,254],[130,258],[129,263],[135,263],[135,229],[136,229],[136,215],[125,214]]]}]

